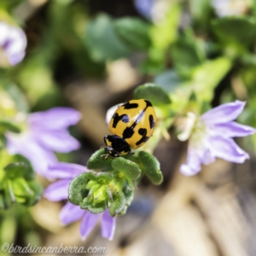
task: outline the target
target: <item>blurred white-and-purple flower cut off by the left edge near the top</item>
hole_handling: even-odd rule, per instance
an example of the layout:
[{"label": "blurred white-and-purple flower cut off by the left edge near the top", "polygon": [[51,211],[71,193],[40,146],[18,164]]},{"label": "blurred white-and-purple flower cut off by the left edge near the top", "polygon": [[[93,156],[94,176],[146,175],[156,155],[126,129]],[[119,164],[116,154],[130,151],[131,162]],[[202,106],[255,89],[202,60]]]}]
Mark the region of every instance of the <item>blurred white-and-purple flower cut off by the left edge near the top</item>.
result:
[{"label": "blurred white-and-purple flower cut off by the left edge near the top", "polygon": [[0,55],[0,64],[2,66],[18,64],[25,56],[25,33],[17,26],[0,22],[0,35],[0,49],[2,48],[3,52],[3,55]]}]

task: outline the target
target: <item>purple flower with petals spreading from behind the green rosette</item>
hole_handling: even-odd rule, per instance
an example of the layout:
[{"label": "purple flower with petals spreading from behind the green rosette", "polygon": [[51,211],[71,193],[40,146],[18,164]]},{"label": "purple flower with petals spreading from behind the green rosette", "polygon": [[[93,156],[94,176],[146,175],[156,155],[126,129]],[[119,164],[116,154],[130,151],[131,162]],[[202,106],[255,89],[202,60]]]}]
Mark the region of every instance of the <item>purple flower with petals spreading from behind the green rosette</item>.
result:
[{"label": "purple flower with petals spreading from behind the green rosette", "polygon": [[[60,180],[50,184],[44,191],[44,196],[49,201],[67,200],[67,189],[69,183],[80,173],[87,172],[87,169],[84,166],[67,163],[59,163],[56,166],[51,166],[49,167],[49,170],[51,177],[60,178]],[[100,219],[102,220],[102,236],[109,240],[113,239],[115,218],[112,218],[109,215],[107,209],[105,212],[100,214],[93,214],[80,209],[78,206],[74,206],[70,202],[67,202],[67,204],[61,209],[60,219],[62,224],[71,224],[80,218],[82,218],[80,233],[83,240],[90,235],[90,232],[95,228]]]}]

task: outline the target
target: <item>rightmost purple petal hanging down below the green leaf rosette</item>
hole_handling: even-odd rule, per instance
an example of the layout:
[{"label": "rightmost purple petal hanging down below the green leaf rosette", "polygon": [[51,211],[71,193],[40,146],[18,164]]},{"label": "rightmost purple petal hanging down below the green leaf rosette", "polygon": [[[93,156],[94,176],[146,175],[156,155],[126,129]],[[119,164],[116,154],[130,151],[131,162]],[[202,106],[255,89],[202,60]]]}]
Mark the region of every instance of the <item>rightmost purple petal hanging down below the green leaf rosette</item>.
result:
[{"label": "rightmost purple petal hanging down below the green leaf rosette", "polygon": [[105,212],[102,213],[102,237],[108,238],[108,240],[113,239],[115,223],[116,218],[112,218],[109,215],[108,209],[106,209]]}]

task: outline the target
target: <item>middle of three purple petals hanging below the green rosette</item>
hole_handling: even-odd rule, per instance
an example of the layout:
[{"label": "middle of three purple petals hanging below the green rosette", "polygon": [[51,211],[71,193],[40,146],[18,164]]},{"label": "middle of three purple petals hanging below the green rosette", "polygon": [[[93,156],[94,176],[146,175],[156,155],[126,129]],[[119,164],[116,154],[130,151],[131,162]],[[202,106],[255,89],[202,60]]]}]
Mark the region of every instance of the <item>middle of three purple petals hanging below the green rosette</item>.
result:
[{"label": "middle of three purple petals hanging below the green rosette", "polygon": [[84,213],[84,218],[80,225],[80,233],[83,240],[85,240],[87,236],[90,235],[90,232],[95,228],[100,216],[101,214],[93,214],[91,212]]}]

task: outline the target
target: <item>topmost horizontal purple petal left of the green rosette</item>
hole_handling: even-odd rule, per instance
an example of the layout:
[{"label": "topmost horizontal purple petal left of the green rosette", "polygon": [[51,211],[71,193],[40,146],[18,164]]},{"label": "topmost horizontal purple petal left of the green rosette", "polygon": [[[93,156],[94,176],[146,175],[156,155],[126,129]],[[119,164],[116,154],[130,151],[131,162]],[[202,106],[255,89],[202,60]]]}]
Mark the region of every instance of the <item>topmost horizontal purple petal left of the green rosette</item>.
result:
[{"label": "topmost horizontal purple petal left of the green rosette", "polygon": [[82,172],[88,172],[85,166],[69,163],[57,163],[55,166],[49,166],[49,176],[56,178],[73,178]]}]

